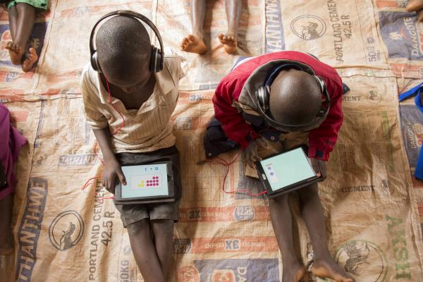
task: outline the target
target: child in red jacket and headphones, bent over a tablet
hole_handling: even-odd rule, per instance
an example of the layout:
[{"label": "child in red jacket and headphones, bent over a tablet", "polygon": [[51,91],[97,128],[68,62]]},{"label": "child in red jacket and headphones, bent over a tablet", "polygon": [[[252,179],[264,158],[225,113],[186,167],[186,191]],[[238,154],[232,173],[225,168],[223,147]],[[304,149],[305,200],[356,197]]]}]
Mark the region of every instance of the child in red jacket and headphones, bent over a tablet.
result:
[{"label": "child in red jacket and headphones, bent over a tablet", "polygon": [[[312,165],[325,178],[325,161],[343,122],[342,96],[343,84],[334,68],[309,54],[280,51],[235,66],[217,86],[213,104],[228,142],[243,148],[246,168],[271,154],[305,145]],[[210,144],[204,140],[204,145]],[[205,149],[207,157],[218,152],[216,148]],[[250,176],[257,177],[257,171],[250,170]],[[297,192],[314,250],[313,274],[339,282],[354,281],[328,250],[317,184]],[[295,257],[288,194],[269,199],[269,209],[282,254],[283,282],[300,281],[306,269]]]}]

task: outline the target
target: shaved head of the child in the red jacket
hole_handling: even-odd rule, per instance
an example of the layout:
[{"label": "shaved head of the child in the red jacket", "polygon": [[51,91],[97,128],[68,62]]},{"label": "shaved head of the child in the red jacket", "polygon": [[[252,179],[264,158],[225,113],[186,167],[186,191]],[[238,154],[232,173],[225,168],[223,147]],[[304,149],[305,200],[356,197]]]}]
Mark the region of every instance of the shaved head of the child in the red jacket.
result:
[{"label": "shaved head of the child in the red jacket", "polygon": [[315,78],[305,71],[281,71],[271,83],[271,115],[289,125],[312,123],[321,108],[321,90]]}]

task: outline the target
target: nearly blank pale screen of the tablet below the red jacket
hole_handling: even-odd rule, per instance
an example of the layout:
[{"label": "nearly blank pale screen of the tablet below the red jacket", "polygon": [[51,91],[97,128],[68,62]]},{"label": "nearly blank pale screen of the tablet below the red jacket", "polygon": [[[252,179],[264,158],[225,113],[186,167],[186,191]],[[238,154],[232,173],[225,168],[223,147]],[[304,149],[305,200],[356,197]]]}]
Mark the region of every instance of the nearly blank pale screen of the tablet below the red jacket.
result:
[{"label": "nearly blank pale screen of the tablet below the red jacket", "polygon": [[302,148],[264,159],[260,164],[273,191],[316,176]]}]

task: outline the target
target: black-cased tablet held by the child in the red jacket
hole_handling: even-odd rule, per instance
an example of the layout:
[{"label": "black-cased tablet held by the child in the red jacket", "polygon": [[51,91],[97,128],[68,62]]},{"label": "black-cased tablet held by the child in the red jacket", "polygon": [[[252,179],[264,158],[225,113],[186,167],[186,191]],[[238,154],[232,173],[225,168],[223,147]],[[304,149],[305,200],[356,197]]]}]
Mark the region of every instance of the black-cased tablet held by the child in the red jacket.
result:
[{"label": "black-cased tablet held by the child in the red jacket", "polygon": [[257,161],[256,166],[269,198],[323,180],[317,176],[302,147]]}]

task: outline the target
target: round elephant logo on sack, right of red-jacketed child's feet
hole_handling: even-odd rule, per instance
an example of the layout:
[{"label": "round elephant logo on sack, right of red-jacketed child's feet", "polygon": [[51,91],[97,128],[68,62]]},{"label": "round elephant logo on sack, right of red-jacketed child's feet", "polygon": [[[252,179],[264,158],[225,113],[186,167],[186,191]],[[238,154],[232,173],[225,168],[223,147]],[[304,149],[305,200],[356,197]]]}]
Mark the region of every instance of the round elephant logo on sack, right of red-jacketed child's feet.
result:
[{"label": "round elephant logo on sack, right of red-jacketed child's feet", "polygon": [[357,281],[365,277],[367,281],[381,282],[388,272],[386,257],[380,247],[365,240],[345,243],[338,248],[335,259]]}]

